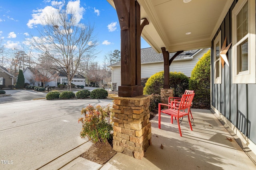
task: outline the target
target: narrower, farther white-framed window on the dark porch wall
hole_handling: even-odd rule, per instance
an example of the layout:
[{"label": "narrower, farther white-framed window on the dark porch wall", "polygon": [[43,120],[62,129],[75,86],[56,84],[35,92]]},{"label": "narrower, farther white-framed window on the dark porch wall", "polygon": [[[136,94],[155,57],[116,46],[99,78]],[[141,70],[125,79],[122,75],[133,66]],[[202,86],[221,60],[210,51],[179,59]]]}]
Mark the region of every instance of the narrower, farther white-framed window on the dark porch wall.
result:
[{"label": "narrower, farther white-framed window on the dark porch wall", "polygon": [[221,62],[220,62],[221,31],[214,40],[214,83],[221,84]]}]

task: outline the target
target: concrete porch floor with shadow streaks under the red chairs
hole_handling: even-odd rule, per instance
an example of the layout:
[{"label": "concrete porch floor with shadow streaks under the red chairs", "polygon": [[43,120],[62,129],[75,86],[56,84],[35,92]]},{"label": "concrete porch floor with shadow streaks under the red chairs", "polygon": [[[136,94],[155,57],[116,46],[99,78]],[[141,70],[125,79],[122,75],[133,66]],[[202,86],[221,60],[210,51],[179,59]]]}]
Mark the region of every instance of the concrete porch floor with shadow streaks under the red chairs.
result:
[{"label": "concrete porch floor with shadow streaks under the red chairs", "polygon": [[[158,129],[158,115],[156,115],[151,120],[152,146],[145,152],[142,160],[118,153],[101,169],[250,170],[256,168],[253,161],[210,110],[192,109],[192,115],[195,123],[193,131],[190,130],[187,117],[184,117],[180,124],[182,137],[177,122],[171,124],[170,116],[166,114],[161,113],[161,129]],[[227,138],[231,138],[232,141]]]}]

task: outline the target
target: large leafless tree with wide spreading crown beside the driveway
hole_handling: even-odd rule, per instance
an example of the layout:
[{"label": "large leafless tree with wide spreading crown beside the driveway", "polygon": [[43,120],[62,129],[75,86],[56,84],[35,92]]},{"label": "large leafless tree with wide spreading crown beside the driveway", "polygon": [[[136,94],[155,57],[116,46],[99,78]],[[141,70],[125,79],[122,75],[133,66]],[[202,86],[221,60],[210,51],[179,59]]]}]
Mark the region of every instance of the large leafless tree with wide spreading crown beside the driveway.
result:
[{"label": "large leafless tree with wide spreading crown beside the driveway", "polygon": [[68,90],[71,81],[87,55],[96,53],[98,45],[94,37],[94,26],[79,23],[76,11],[63,1],[63,6],[54,5],[52,13],[42,18],[42,25],[38,25],[39,37],[32,37],[30,44],[41,53],[53,59],[66,73]]}]

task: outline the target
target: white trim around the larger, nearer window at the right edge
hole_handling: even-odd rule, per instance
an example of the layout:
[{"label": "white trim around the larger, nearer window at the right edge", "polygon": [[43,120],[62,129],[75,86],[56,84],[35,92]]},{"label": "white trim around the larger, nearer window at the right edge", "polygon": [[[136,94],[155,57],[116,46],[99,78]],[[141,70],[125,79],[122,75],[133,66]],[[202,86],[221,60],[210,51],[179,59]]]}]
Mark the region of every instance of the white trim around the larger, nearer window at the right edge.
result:
[{"label": "white trim around the larger, nearer window at the right edge", "polygon": [[[239,42],[248,39],[248,70],[237,74],[236,16],[248,1],[248,34]],[[239,0],[232,10],[232,82],[234,84],[256,83],[256,31],[255,31],[255,0]]]}]

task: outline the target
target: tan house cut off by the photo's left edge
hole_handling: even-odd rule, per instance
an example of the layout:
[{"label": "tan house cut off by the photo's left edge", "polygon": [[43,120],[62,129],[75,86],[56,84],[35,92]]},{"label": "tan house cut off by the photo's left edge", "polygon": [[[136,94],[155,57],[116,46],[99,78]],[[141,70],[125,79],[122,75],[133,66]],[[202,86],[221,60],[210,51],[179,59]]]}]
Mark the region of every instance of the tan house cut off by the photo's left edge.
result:
[{"label": "tan house cut off by the photo's left edge", "polygon": [[5,67],[0,66],[0,89],[13,85],[14,79],[15,77]]}]

